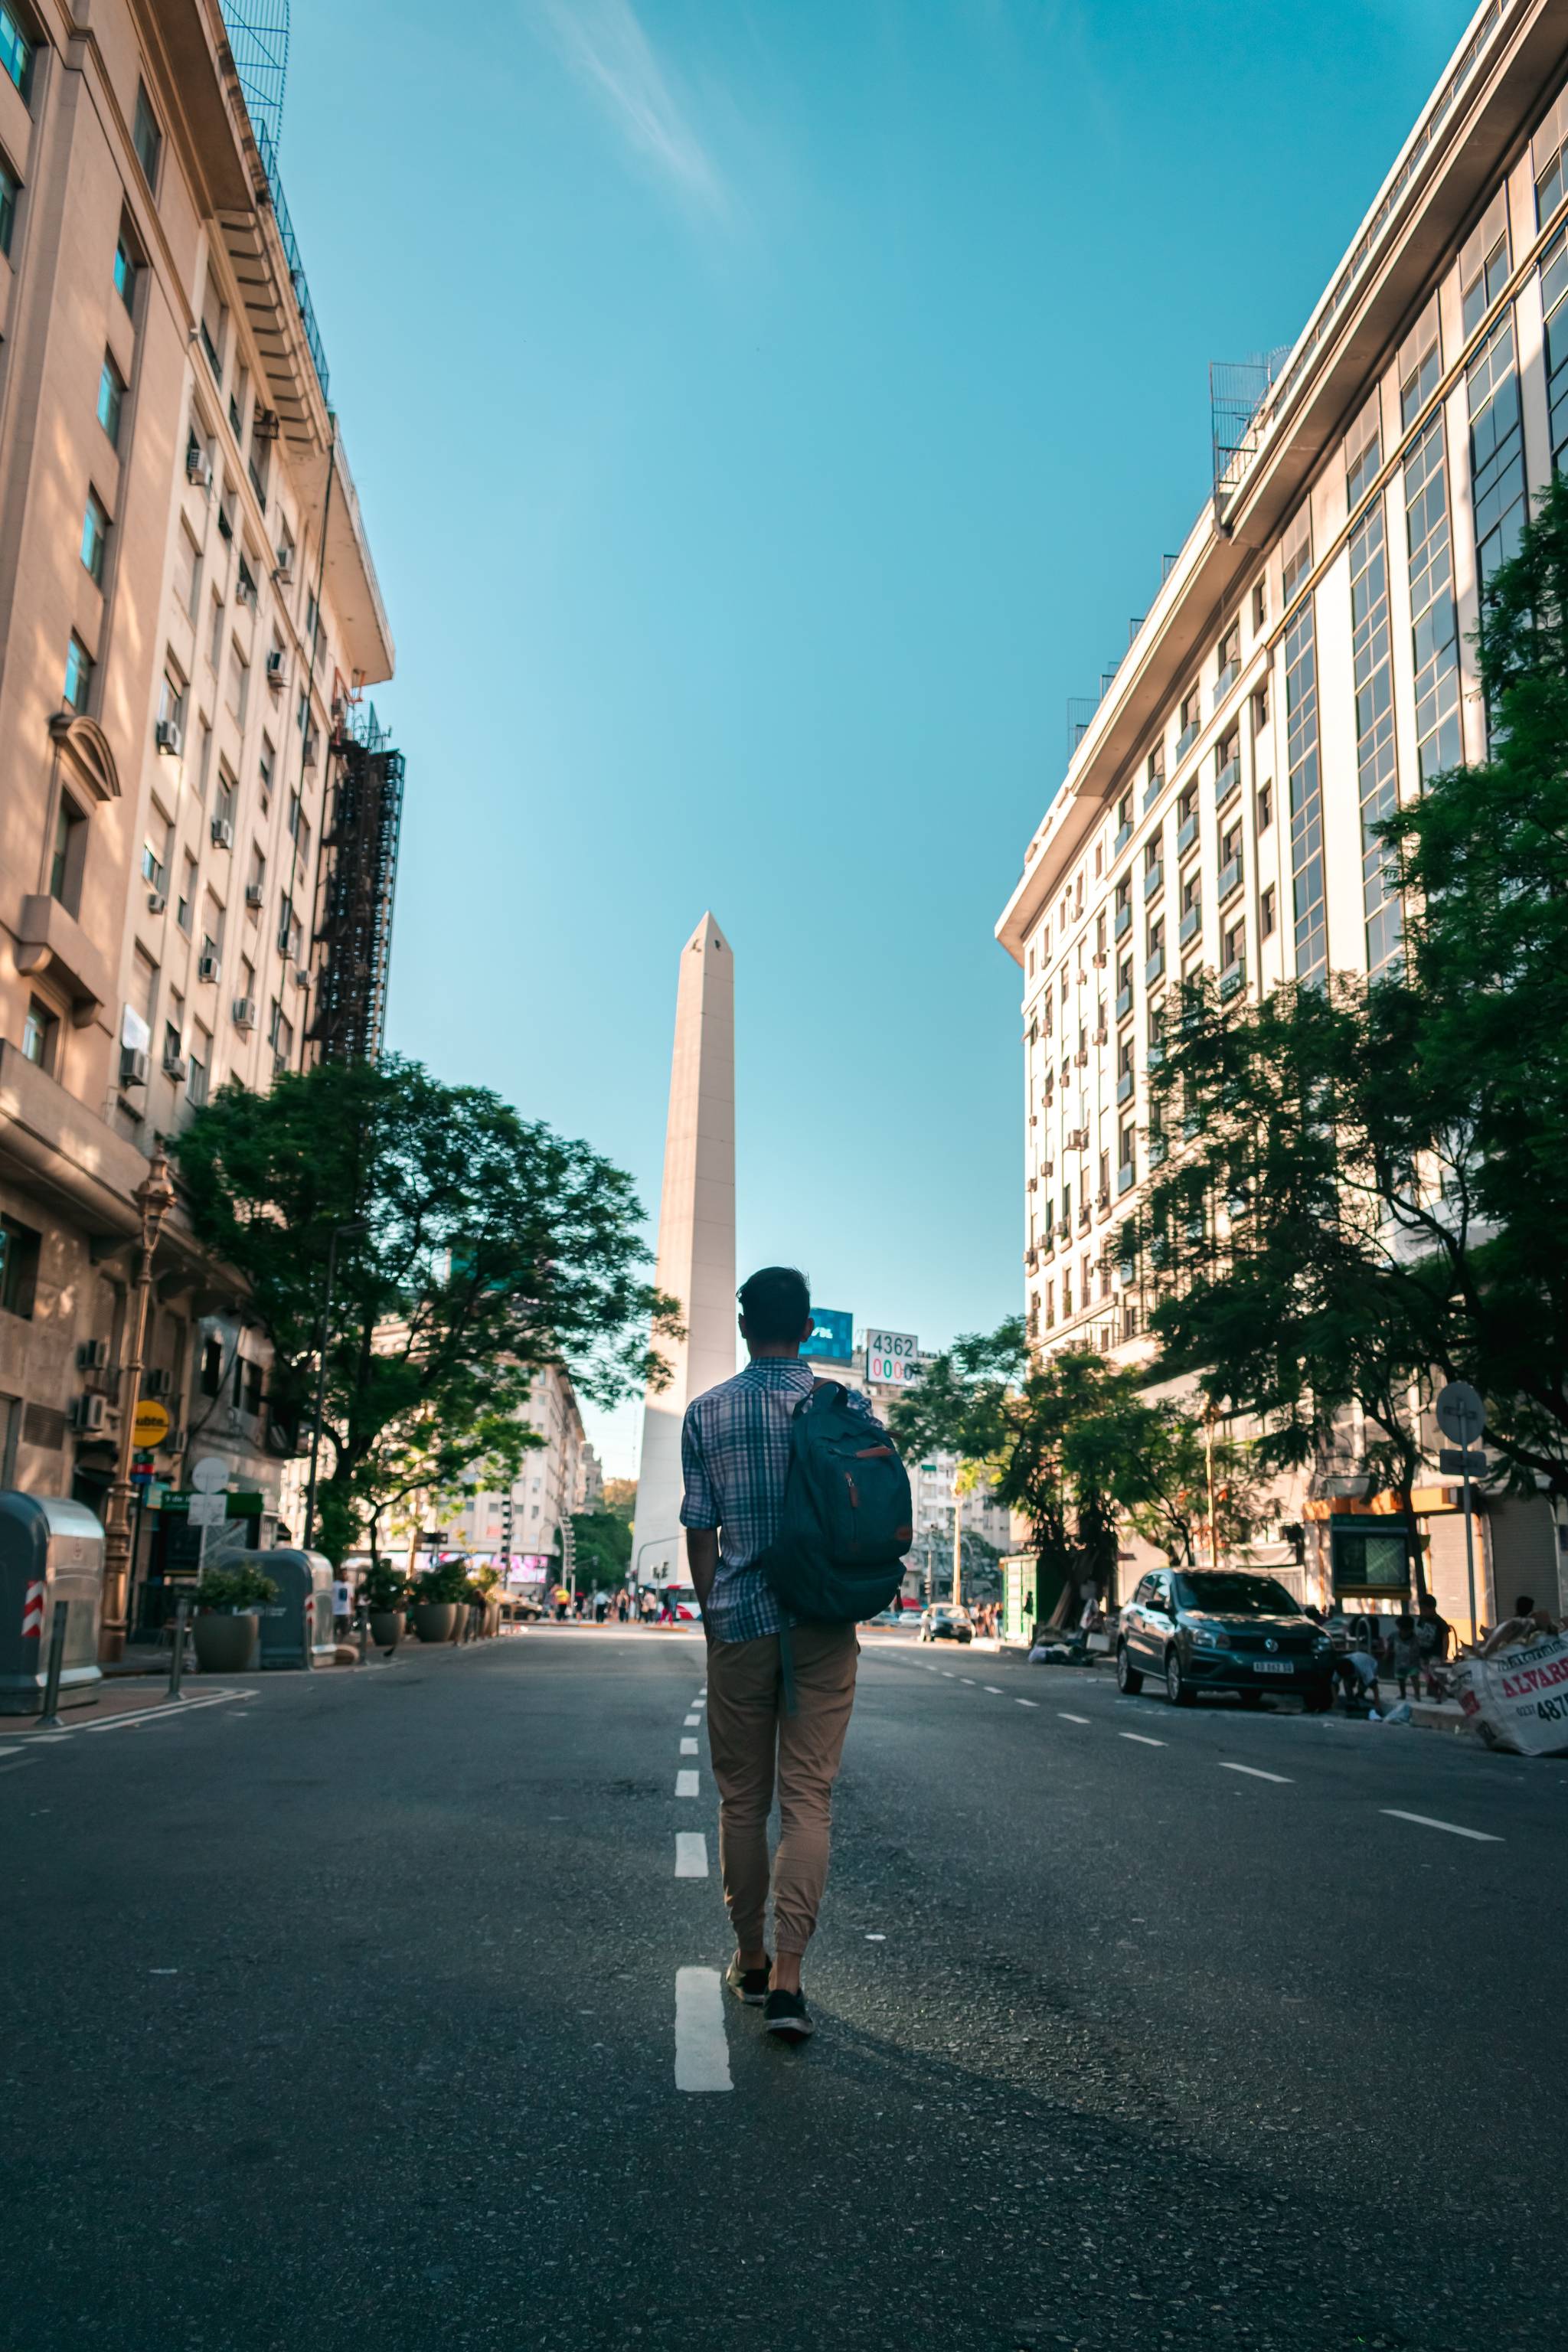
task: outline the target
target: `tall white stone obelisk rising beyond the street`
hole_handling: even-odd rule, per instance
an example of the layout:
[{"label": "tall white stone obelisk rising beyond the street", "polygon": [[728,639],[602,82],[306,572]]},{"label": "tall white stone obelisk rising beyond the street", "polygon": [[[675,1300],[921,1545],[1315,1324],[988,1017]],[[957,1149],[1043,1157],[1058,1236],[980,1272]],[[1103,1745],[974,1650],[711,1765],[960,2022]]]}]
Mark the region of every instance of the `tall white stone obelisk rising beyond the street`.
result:
[{"label": "tall white stone obelisk rising beyond the street", "polygon": [[736,981],[712,915],[679,962],[656,1282],[679,1298],[686,1336],[656,1341],[670,1383],[649,1388],[642,1406],[632,1573],[684,1585],[682,1414],[736,1369]]}]

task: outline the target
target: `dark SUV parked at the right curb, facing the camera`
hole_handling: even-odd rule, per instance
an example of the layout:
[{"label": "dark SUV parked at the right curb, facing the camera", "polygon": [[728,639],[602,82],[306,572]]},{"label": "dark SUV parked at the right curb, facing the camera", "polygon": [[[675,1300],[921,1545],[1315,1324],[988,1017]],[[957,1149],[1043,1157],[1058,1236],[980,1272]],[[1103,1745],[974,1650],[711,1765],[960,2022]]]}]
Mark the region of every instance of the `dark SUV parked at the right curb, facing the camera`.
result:
[{"label": "dark SUV parked at the right curb, facing the camera", "polygon": [[1255,1708],[1291,1691],[1321,1715],[1333,1700],[1328,1635],[1274,1576],[1248,1569],[1154,1569],[1117,1625],[1117,1686],[1164,1684],[1173,1708],[1237,1691]]}]

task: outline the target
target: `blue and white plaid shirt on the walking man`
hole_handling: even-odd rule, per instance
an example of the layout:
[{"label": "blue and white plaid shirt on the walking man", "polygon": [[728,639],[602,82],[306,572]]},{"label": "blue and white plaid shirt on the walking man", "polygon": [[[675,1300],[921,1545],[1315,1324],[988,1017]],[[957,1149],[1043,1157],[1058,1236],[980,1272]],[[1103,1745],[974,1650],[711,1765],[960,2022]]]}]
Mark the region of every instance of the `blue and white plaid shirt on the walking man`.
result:
[{"label": "blue and white plaid shirt on the walking man", "polygon": [[[719,1529],[719,1566],[703,1621],[715,1642],[780,1632],[785,1613],[752,1566],[778,1534],[790,1475],[790,1421],[811,1392],[811,1367],[762,1355],[686,1406],[682,1526]],[[849,1392],[865,1414],[865,1397]]]}]

